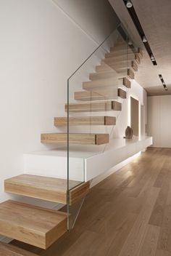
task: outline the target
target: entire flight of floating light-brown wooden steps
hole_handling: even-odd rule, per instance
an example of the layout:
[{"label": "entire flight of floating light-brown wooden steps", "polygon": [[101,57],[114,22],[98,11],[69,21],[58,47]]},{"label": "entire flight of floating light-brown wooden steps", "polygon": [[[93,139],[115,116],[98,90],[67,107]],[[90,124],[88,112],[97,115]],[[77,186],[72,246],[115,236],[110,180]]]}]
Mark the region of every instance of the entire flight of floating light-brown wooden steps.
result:
[{"label": "entire flight of floating light-brown wooden steps", "polygon": [[[141,49],[133,52],[128,48],[128,67],[125,62],[123,41],[111,48],[110,52],[96,66],[96,72],[90,73],[91,81],[83,82],[83,91],[75,92],[74,100],[80,102],[64,105],[64,111],[70,113],[89,113],[104,111],[122,111],[122,103],[126,99],[143,56]],[[125,89],[124,89],[125,88]],[[70,116],[70,126],[114,126],[115,116]],[[54,126],[67,126],[67,117],[55,117]],[[107,133],[70,133],[70,143],[82,145],[103,145],[109,143]],[[67,143],[67,133],[43,133],[41,143]],[[90,189],[90,183],[37,175],[19,175],[4,181],[4,191],[18,196],[28,196],[46,201],[72,206],[83,199]],[[47,249],[67,231],[67,214],[54,209],[44,209],[19,201],[4,201],[0,204],[0,233],[3,236],[17,239],[42,249]],[[0,256],[34,256],[30,252],[0,243]]]}]

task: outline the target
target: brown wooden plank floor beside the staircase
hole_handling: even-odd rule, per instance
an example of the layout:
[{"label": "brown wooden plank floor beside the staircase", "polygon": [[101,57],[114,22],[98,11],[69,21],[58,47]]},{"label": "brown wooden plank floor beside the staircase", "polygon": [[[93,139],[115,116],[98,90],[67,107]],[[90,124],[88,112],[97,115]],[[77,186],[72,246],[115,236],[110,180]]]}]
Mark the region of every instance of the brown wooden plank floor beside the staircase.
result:
[{"label": "brown wooden plank floor beside the staircase", "polygon": [[170,256],[171,149],[149,148],[91,189],[75,228],[43,256]]}]

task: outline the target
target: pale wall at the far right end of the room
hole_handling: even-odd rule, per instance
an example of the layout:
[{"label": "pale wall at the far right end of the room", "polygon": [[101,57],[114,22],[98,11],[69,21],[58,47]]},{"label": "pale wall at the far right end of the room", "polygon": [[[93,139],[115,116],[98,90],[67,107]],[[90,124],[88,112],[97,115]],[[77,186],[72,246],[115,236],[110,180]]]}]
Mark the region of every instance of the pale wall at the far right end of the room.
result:
[{"label": "pale wall at the far right end of the room", "polygon": [[153,146],[171,148],[171,95],[148,97],[148,132]]}]

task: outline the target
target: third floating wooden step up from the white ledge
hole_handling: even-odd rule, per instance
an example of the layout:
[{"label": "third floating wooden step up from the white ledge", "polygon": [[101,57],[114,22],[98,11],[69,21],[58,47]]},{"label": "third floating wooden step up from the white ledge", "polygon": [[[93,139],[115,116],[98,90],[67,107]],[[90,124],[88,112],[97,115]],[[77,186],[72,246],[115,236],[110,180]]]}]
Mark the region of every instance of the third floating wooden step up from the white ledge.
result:
[{"label": "third floating wooden step up from the white ledge", "polygon": [[[70,112],[100,112],[100,111],[121,111],[122,104],[115,101],[95,101],[86,103],[70,103]],[[67,104],[65,105],[67,111]]]}]

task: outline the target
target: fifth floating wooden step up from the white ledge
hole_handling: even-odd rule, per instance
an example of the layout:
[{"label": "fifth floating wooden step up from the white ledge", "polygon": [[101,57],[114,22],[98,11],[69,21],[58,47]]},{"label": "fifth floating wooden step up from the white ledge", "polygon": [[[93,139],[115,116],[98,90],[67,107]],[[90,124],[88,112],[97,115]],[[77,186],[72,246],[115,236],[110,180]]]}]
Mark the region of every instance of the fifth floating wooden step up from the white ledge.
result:
[{"label": "fifth floating wooden step up from the white ledge", "polygon": [[[83,89],[85,90],[94,90],[99,88],[107,88],[107,87],[115,87],[117,90],[118,86],[128,86],[130,84],[130,81],[124,77],[120,79],[115,78],[107,78],[107,79],[99,79],[94,81],[84,81],[83,82]],[[100,92],[99,92],[100,93]],[[116,93],[117,95],[117,93]]]}]

